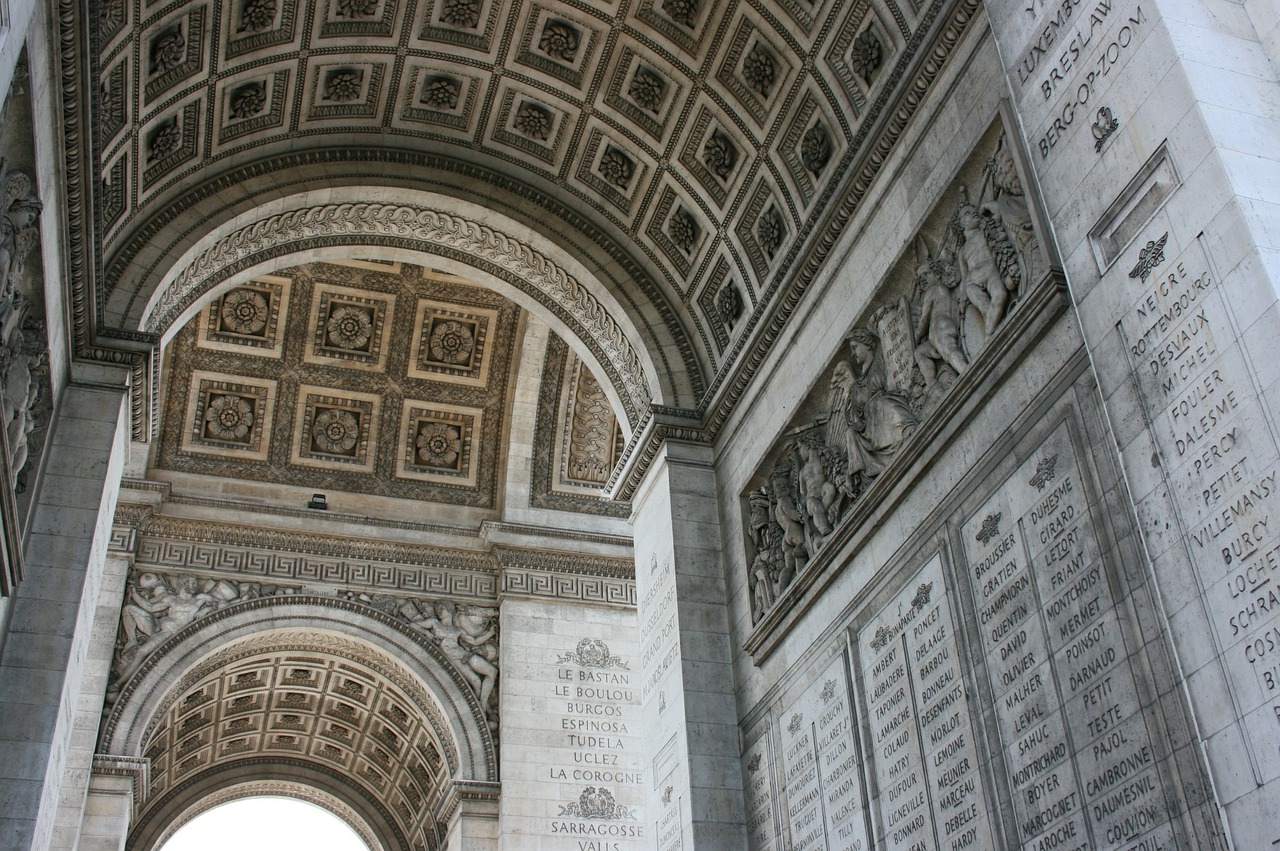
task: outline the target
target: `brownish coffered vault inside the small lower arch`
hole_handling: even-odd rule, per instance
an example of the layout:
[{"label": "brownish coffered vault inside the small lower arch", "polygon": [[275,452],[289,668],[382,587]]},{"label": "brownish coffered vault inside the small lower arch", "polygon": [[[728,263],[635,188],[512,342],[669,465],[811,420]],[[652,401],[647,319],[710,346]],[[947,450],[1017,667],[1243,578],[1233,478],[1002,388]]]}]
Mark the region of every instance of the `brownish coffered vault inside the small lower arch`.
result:
[{"label": "brownish coffered vault inside the small lower arch", "polygon": [[335,779],[339,800],[390,828],[392,847],[439,846],[435,819],[458,758],[424,712],[431,697],[393,663],[362,658],[352,642],[330,641],[344,654],[311,646],[314,637],[268,636],[220,651],[175,686],[146,735],[150,786],[137,834],[164,829],[175,802],[207,793],[220,772],[262,779],[270,765],[279,781]]}]

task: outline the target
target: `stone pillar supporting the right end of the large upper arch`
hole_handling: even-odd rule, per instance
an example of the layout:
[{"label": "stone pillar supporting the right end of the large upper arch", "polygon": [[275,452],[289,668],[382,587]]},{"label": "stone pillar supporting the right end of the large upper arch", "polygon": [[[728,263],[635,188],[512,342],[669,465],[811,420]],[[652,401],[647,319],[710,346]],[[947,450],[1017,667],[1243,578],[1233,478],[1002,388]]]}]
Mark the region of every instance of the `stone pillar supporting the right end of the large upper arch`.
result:
[{"label": "stone pillar supporting the right end of the large upper arch", "polygon": [[745,848],[710,448],[662,440],[634,504],[652,847]]}]

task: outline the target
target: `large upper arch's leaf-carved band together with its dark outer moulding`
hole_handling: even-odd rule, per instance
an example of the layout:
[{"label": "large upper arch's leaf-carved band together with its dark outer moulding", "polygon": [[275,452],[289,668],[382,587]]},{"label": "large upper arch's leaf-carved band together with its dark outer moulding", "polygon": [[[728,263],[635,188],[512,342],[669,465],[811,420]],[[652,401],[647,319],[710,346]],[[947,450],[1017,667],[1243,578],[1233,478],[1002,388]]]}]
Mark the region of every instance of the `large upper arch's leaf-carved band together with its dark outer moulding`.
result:
[{"label": "large upper arch's leaf-carved band together with its dark outer moulding", "polygon": [[101,306],[106,324],[125,335],[165,337],[220,285],[251,276],[248,270],[264,274],[289,258],[349,257],[352,248],[366,248],[502,282],[524,297],[513,301],[600,362],[632,422],[650,401],[691,406],[704,392],[709,365],[699,361],[705,353],[682,325],[684,312],[632,261],[598,256],[598,238],[566,229],[554,203],[547,205],[548,215],[530,220],[524,209],[541,205],[512,209],[495,196],[475,203],[447,193],[461,192],[458,187],[426,191],[380,175],[323,188],[300,183],[283,188],[298,189],[291,195],[259,192],[255,198],[262,200],[248,207],[188,210],[193,215],[182,221],[198,227],[179,232],[178,221],[169,223],[151,234],[154,244],[129,269],[120,265],[127,252],[119,252],[106,273],[115,282]]}]

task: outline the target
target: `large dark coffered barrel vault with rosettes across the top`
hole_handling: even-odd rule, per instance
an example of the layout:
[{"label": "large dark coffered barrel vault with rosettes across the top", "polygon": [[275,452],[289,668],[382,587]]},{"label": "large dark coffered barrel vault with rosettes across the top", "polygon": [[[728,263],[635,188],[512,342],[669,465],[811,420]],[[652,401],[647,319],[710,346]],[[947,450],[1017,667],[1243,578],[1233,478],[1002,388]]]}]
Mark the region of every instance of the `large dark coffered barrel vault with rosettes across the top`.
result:
[{"label": "large dark coffered barrel vault with rosettes across the top", "polygon": [[95,4],[100,333],[136,334],[110,324],[211,216],[315,179],[420,180],[595,252],[641,334],[662,325],[650,339],[682,352],[691,404],[804,271],[850,179],[865,189],[972,18],[941,14],[954,5]]}]

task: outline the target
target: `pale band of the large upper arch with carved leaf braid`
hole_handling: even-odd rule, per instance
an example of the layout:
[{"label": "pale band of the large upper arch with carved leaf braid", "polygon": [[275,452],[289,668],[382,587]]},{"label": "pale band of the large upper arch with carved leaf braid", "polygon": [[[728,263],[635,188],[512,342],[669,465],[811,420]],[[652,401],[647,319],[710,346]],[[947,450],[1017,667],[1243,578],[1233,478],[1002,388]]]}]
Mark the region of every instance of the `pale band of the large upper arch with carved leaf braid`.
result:
[{"label": "pale band of the large upper arch with carved leaf braid", "polygon": [[138,293],[114,311],[168,339],[218,292],[255,275],[365,251],[449,269],[538,315],[602,378],[627,431],[650,402],[692,398],[700,378],[690,375],[691,363],[667,357],[669,329],[644,307],[622,305],[571,252],[479,205],[403,188],[378,191],[387,200],[369,202],[370,192],[302,192],[212,227],[175,260],[145,305]]}]

